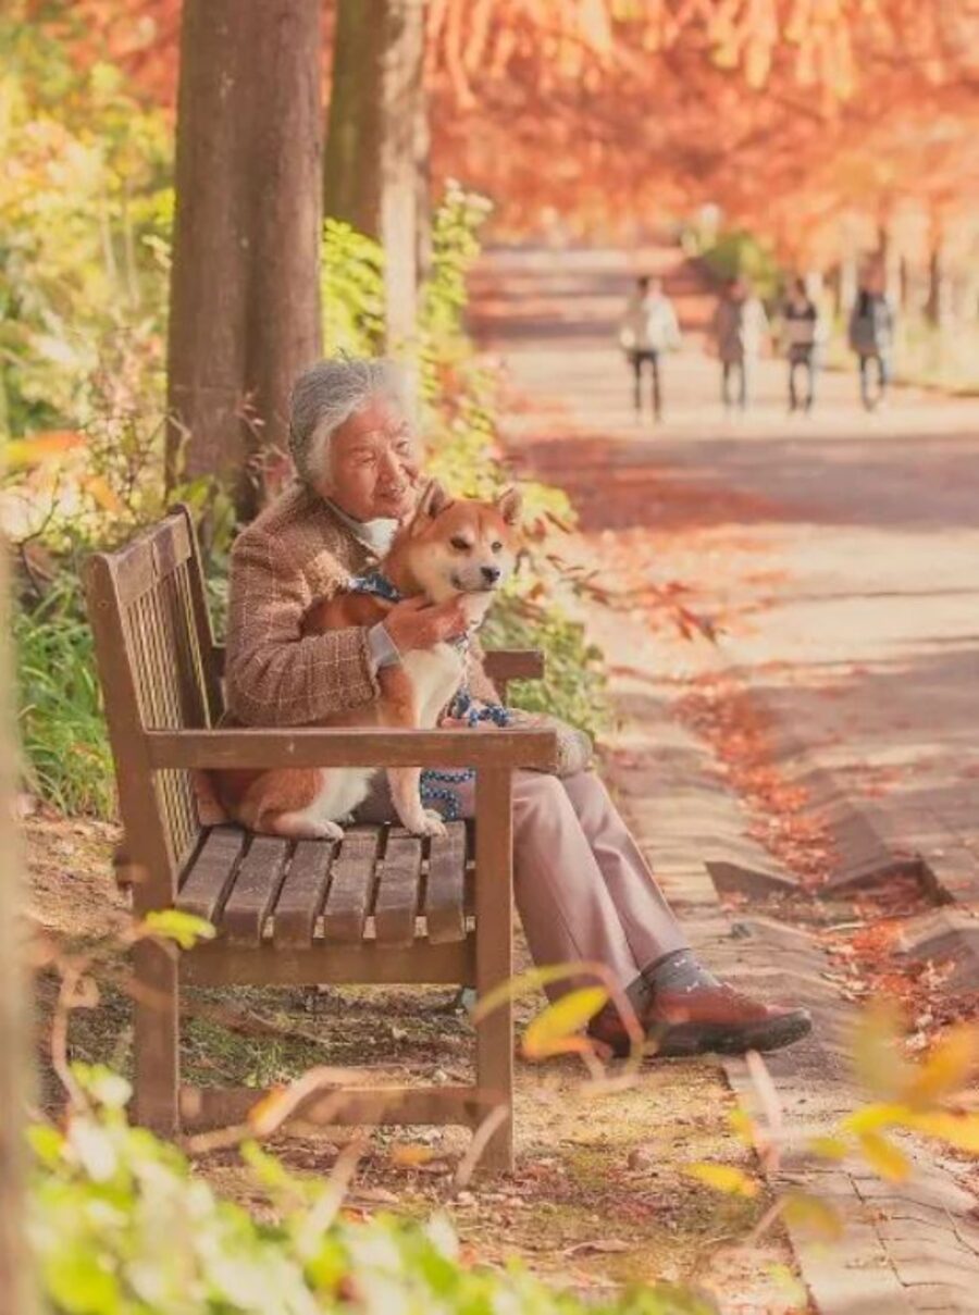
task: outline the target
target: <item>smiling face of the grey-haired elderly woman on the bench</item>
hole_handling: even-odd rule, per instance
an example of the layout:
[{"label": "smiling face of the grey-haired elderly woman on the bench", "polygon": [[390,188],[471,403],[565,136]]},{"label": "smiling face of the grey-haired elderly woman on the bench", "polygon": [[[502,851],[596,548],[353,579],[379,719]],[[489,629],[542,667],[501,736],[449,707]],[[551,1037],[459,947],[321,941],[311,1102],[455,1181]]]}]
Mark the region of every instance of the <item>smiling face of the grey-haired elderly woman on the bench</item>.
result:
[{"label": "smiling face of the grey-haired elderly woman on the bench", "polygon": [[317,492],[358,521],[397,521],[414,506],[417,477],[408,421],[393,404],[372,401],[333,434],[329,475]]}]

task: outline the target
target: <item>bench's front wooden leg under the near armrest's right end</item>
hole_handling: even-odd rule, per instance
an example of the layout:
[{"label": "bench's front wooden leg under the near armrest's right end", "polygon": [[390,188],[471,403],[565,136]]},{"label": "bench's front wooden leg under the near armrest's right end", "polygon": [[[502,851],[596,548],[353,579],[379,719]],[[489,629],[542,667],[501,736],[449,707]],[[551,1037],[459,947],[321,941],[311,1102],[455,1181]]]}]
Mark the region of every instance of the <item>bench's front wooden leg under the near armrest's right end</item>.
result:
[{"label": "bench's front wooden leg under the near armrest's right end", "polygon": [[[513,826],[508,768],[476,776],[476,992],[488,994],[513,976]],[[507,1118],[486,1145],[480,1166],[513,1169],[513,1005],[508,999],[476,1027],[476,1082]],[[487,1112],[492,1106],[487,1103]]]}]

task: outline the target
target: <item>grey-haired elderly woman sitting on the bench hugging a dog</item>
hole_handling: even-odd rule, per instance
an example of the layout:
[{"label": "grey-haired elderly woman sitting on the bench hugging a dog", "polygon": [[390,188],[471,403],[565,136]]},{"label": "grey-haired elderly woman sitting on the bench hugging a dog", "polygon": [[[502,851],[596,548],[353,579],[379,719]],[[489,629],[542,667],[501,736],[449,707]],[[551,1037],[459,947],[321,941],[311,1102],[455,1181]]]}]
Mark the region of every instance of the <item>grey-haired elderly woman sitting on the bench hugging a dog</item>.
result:
[{"label": "grey-haired elderly woman sitting on the bench hugging a dog", "polygon": [[[232,555],[228,704],[251,726],[316,725],[367,705],[379,696],[382,667],[466,629],[461,601],[412,598],[372,629],[301,633],[313,601],[368,572],[413,508],[418,455],[397,367],[347,359],[307,371],[292,394],[291,448],[299,480],[239,535]],[[476,700],[496,700],[478,646],[468,688]],[[561,777],[517,772],[513,782],[515,894],[536,963],[608,964],[661,1055],[772,1049],[808,1032],[804,1010],[749,999],[697,963],[587,769],[583,738],[566,727],[561,743]],[[461,793],[471,810],[471,788]],[[383,798],[366,809],[376,819]],[[628,1048],[611,1007],[590,1030],[617,1053]]]}]

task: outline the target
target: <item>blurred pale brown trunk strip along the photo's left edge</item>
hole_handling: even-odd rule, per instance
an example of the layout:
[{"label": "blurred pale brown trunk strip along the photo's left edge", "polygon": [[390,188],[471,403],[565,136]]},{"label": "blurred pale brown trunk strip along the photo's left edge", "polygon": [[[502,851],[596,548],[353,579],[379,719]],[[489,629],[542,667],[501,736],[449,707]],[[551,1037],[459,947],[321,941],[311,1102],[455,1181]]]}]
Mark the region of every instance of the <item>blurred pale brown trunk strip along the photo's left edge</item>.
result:
[{"label": "blurred pale brown trunk strip along the photo's left edge", "polygon": [[22,961],[24,869],[13,822],[17,752],[8,636],[9,575],[0,539],[0,1294],[4,1311],[33,1315],[34,1273],[28,1249],[25,1109],[32,1093],[29,980]]}]

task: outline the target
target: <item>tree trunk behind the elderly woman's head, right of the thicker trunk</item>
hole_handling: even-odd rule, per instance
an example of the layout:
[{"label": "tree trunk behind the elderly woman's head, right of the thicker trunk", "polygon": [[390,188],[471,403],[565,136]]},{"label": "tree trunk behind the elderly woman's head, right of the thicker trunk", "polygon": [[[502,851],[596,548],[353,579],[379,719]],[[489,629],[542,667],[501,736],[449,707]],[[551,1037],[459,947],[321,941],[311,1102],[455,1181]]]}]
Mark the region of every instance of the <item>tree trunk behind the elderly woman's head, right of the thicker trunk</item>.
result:
[{"label": "tree trunk behind the elderly woman's head, right of the thicker trunk", "polygon": [[411,355],[428,230],[424,0],[339,0],[325,210],[384,249],[388,346]]}]

